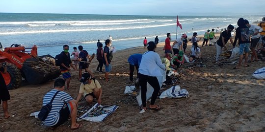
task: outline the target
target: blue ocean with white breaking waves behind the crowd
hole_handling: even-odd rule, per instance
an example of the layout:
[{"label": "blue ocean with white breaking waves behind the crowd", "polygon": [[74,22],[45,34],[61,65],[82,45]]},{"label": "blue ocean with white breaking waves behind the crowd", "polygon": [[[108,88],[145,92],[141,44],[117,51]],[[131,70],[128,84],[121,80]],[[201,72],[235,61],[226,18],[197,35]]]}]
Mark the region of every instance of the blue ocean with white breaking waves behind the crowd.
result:
[{"label": "blue ocean with white breaking waves behind the crowd", "polygon": [[[229,24],[237,27],[240,17],[251,23],[261,21],[263,16],[179,16],[183,29],[178,27],[178,37],[183,33],[188,37],[193,32],[204,34],[216,27],[221,30]],[[63,51],[64,44],[69,45],[70,53],[74,46],[82,45],[92,54],[96,53],[97,40],[105,45],[109,35],[116,50],[143,46],[144,37],[149,42],[159,36],[159,42],[163,42],[168,32],[175,40],[176,19],[177,16],[0,13],[0,43],[3,47],[37,45],[38,55],[52,56]]]}]

